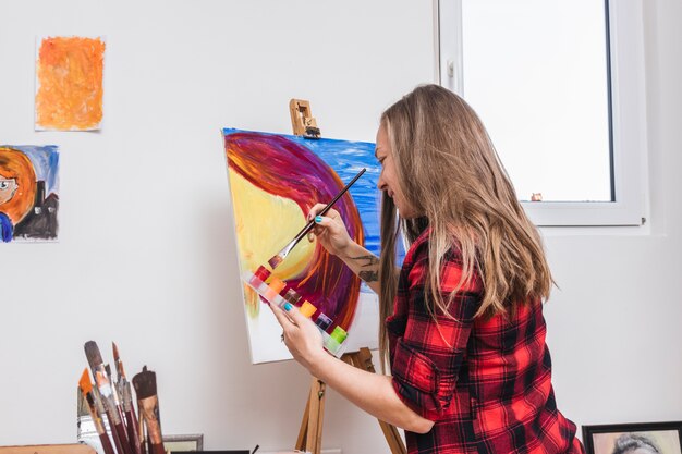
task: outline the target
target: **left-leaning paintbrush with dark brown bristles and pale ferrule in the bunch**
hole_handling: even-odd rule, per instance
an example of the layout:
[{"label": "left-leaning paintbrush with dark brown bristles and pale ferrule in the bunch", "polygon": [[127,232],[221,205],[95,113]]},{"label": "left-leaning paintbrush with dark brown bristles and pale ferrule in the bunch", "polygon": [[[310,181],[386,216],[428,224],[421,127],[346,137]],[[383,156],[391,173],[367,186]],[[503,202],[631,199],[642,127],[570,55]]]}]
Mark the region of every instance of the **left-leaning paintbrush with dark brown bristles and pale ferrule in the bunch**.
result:
[{"label": "left-leaning paintbrush with dark brown bristles and pale ferrule in the bunch", "polygon": [[85,356],[90,365],[95,383],[99,390],[99,395],[103,400],[105,409],[107,410],[107,419],[109,419],[109,426],[111,426],[111,433],[113,434],[113,441],[119,454],[134,454],[131,452],[127,435],[125,434],[125,428],[121,420],[121,408],[117,406],[114,401],[114,392],[111,388],[109,378],[107,377],[107,369],[101,360],[99,354],[99,347],[94,341],[85,343]]}]

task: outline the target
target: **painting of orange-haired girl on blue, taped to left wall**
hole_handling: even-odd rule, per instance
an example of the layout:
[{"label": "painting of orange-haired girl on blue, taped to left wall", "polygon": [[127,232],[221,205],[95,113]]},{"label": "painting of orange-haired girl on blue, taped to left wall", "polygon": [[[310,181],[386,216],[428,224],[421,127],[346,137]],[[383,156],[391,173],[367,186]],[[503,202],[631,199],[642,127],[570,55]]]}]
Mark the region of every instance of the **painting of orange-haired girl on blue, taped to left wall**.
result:
[{"label": "painting of orange-haired girl on blue, taped to left wall", "polygon": [[0,146],[0,243],[57,240],[59,151]]}]

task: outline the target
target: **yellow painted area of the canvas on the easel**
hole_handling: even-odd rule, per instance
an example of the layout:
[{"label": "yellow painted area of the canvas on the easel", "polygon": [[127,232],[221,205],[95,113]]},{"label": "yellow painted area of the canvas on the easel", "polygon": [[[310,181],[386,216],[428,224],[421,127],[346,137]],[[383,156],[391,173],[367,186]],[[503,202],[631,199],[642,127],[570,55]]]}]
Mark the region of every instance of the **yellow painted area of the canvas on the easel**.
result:
[{"label": "yellow painted area of the canvas on the easel", "polygon": [[[305,214],[295,201],[254,186],[232,169],[229,173],[240,261],[243,269],[255,271],[303,229]],[[315,242],[304,238],[272,274],[281,280],[301,274],[314,253]],[[256,293],[246,292],[246,297],[249,314],[257,315]]]}]

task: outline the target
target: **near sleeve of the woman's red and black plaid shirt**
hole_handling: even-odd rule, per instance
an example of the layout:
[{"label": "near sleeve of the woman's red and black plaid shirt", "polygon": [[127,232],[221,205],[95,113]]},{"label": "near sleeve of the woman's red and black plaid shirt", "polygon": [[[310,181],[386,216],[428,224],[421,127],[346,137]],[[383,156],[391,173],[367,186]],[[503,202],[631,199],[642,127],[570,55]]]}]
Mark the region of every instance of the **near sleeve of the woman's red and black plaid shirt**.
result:
[{"label": "near sleeve of the woman's red and black plaid shirt", "polygon": [[[475,278],[455,294],[449,307],[454,319],[437,311],[434,320],[426,309],[430,295],[424,292],[428,270],[426,254],[424,248],[406,273],[407,282],[399,286],[398,298],[407,304],[407,322],[404,335],[397,339],[391,371],[400,398],[424,418],[436,421],[453,397],[480,292]],[[456,287],[461,273],[459,256],[446,256],[440,285],[443,298]]]}]

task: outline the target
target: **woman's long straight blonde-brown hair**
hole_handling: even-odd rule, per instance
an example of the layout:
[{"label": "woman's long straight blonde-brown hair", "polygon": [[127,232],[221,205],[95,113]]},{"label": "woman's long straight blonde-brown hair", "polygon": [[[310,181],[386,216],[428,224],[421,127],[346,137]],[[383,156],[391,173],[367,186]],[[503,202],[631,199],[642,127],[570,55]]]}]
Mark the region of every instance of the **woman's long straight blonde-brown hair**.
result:
[{"label": "woman's long straight blonde-brown hair", "polygon": [[[428,228],[427,310],[449,317],[456,290],[439,291],[442,258],[456,249],[463,275],[476,272],[483,302],[476,317],[514,311],[549,296],[552,278],[537,228],[526,217],[514,188],[474,110],[437,85],[419,86],[381,115],[388,131],[398,181],[418,218],[397,214],[385,193],[381,201],[380,320],[392,312],[398,277],[395,246],[401,232],[413,243]],[[381,364],[388,349],[380,324]]]}]

